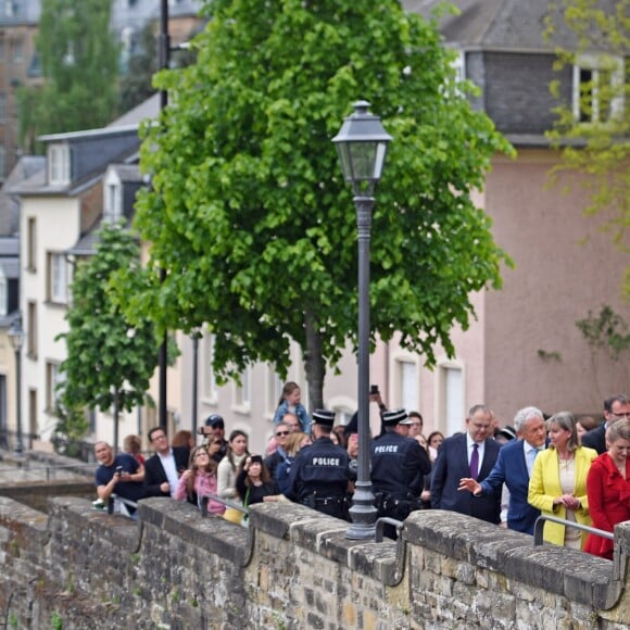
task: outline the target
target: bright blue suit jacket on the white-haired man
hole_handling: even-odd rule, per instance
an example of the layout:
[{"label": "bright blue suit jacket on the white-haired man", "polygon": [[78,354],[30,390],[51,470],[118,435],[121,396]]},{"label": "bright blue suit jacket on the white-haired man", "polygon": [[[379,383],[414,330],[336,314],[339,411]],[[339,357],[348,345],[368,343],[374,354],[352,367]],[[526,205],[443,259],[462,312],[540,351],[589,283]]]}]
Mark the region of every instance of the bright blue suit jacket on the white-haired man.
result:
[{"label": "bright blue suit jacket on the white-haired man", "polygon": [[505,483],[509,490],[507,527],[516,531],[533,534],[533,524],[540,509],[527,502],[529,472],[525,461],[525,441],[513,440],[499,451],[496,464],[488,477],[481,481],[482,494],[499,490]]}]

